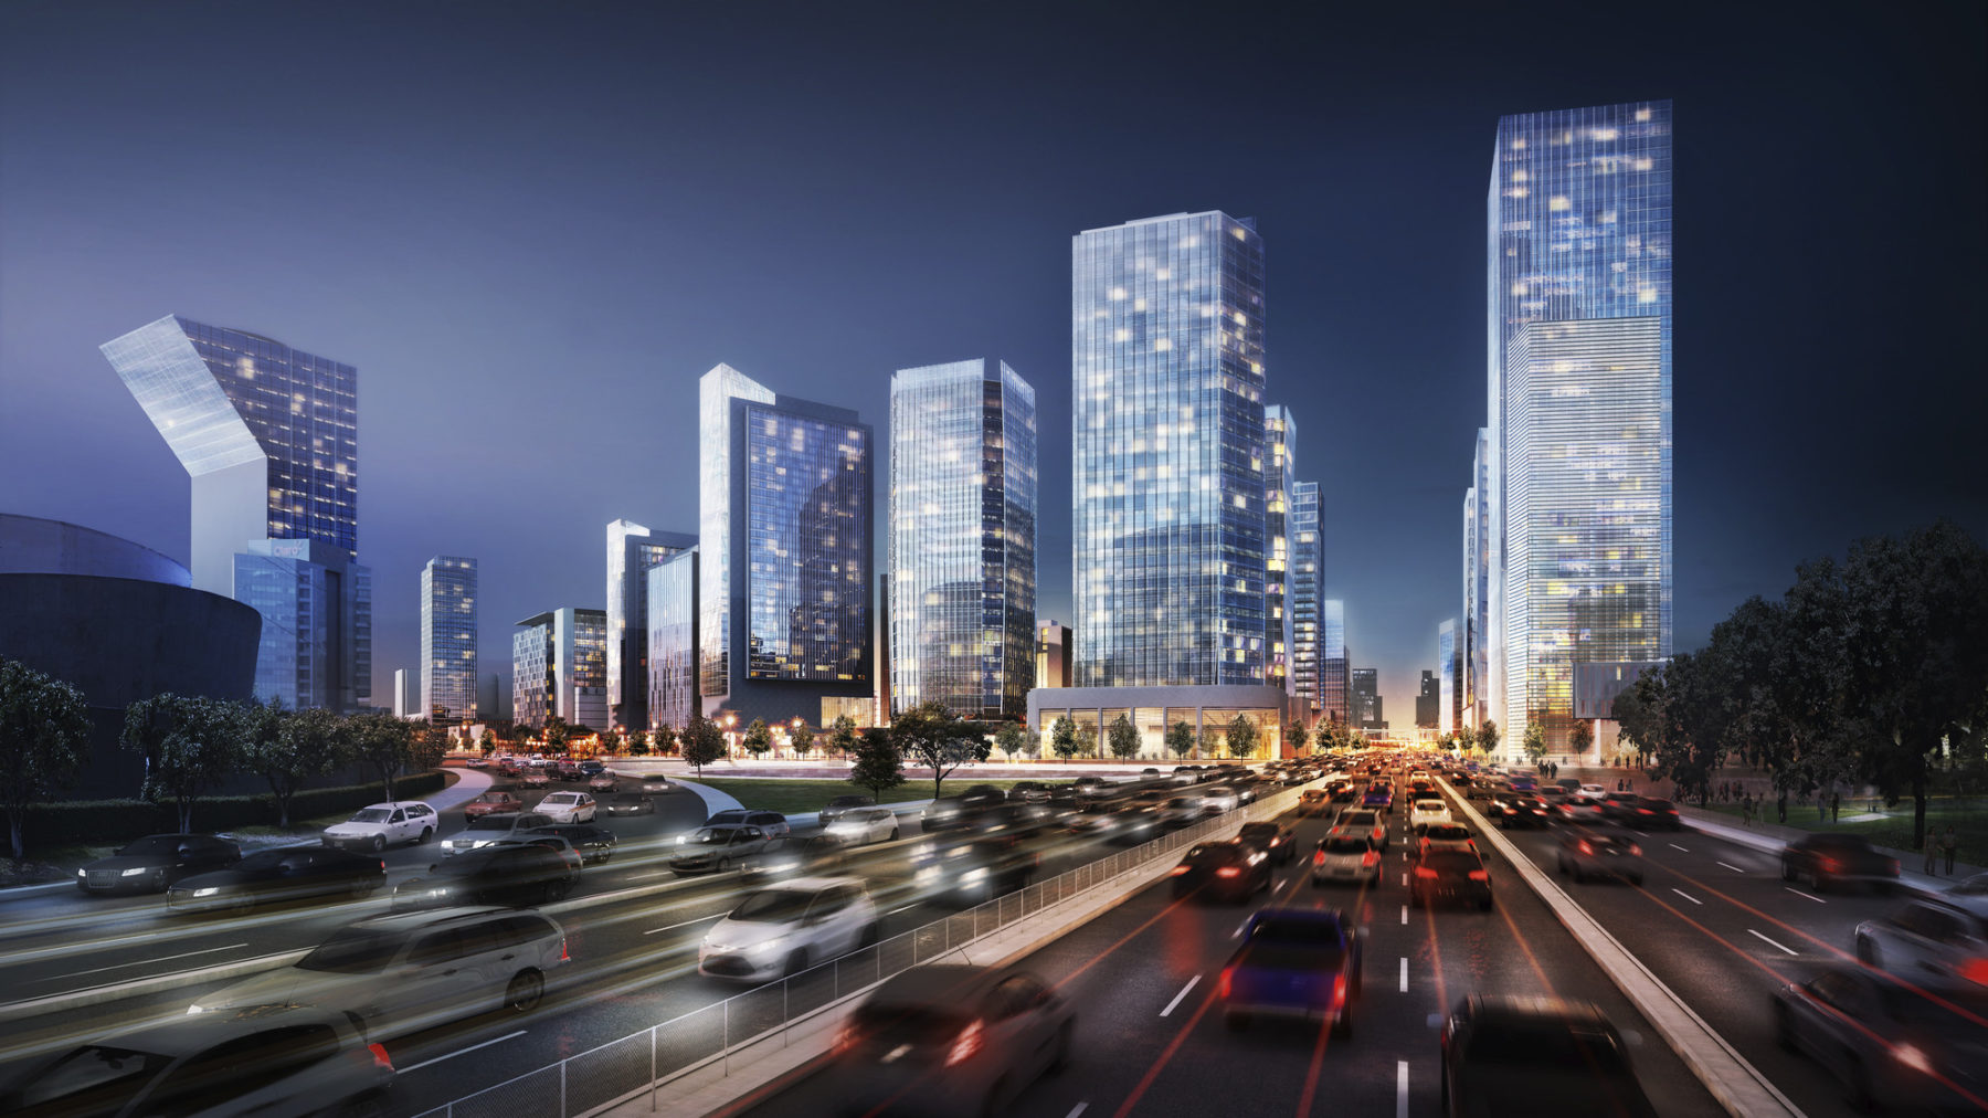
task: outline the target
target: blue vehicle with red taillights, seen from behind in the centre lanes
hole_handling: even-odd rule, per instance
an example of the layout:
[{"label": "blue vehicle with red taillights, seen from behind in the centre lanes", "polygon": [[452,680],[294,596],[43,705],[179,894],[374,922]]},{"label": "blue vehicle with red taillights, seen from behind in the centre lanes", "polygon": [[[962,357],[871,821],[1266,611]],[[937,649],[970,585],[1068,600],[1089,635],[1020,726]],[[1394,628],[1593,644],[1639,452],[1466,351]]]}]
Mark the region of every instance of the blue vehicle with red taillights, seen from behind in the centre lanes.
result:
[{"label": "blue vehicle with red taillights, seen from behind in the centre lanes", "polygon": [[1229,1028],[1254,1017],[1294,1017],[1354,1034],[1360,1001],[1360,933],[1338,909],[1260,909],[1242,927],[1217,985]]}]

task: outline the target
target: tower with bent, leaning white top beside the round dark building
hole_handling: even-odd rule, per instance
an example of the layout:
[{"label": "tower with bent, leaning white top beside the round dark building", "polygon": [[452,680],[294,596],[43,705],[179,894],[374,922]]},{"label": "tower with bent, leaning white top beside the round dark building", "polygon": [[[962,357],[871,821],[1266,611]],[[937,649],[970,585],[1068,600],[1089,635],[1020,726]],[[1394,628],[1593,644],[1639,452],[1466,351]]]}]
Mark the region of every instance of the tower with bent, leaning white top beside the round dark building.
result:
[{"label": "tower with bent, leaning white top beside the round dark building", "polygon": [[[274,611],[256,698],[364,706],[372,581],[356,563],[358,372],[177,314],[99,348],[191,477],[193,585]],[[256,549],[262,541],[284,547]]]}]

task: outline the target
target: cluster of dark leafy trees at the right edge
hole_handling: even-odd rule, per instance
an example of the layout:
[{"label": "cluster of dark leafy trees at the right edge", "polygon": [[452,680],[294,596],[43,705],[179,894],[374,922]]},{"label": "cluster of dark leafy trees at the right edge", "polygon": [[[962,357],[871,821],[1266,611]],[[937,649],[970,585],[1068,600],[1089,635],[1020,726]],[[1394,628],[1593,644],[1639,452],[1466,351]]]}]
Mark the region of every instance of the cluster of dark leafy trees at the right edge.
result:
[{"label": "cluster of dark leafy trees at the right edge", "polygon": [[1680,796],[1706,802],[1728,758],[1781,794],[1869,782],[1891,806],[1912,798],[1922,841],[1934,766],[1988,760],[1988,551],[1942,519],[1805,563],[1781,601],[1741,603],[1612,714]]}]

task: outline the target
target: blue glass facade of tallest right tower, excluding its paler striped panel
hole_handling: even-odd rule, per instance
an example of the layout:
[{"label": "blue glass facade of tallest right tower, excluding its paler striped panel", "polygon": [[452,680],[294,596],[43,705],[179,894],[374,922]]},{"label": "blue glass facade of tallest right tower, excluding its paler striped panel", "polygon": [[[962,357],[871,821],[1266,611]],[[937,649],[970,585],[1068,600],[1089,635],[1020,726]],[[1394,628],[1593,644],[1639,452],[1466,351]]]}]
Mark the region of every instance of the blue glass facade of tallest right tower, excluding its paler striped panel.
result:
[{"label": "blue glass facade of tallest right tower, excluding its paler striped panel", "polygon": [[[1489,706],[1521,722],[1533,698],[1535,651],[1515,623],[1513,601],[1543,593],[1513,569],[1513,410],[1509,368],[1517,334],[1533,322],[1650,318],[1656,324],[1660,458],[1660,601],[1646,613],[1654,643],[1670,654],[1670,304],[1672,304],[1672,105],[1634,101],[1499,119],[1487,195],[1487,479],[1477,499],[1489,513]],[[1543,710],[1557,720],[1551,708]],[[1565,730],[1563,730],[1565,732]],[[1549,742],[1557,742],[1549,730]]]}]

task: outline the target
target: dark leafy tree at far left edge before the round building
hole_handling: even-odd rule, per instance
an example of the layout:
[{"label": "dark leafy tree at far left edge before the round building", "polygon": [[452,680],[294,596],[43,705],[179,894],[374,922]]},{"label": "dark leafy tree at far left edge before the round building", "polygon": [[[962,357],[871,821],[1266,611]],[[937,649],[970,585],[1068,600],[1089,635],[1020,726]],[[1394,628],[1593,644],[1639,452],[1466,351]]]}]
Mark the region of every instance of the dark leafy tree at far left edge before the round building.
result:
[{"label": "dark leafy tree at far left edge before the round building", "polygon": [[20,660],[0,660],[0,802],[14,861],[26,857],[20,830],[32,804],[76,784],[89,764],[83,692]]}]

